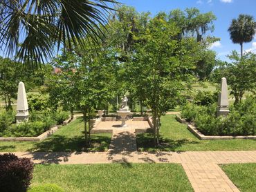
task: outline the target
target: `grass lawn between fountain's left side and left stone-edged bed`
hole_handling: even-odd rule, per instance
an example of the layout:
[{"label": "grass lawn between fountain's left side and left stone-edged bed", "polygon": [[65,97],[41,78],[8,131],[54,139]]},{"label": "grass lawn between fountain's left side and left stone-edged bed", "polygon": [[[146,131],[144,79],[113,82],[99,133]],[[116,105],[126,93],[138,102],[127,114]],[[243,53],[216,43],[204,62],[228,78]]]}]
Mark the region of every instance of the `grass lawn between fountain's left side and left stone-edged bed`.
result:
[{"label": "grass lawn between fountain's left side and left stone-edged bed", "polygon": [[78,118],[42,142],[0,142],[0,151],[107,151],[111,133],[92,134],[91,147],[86,149],[83,125],[82,118]]}]

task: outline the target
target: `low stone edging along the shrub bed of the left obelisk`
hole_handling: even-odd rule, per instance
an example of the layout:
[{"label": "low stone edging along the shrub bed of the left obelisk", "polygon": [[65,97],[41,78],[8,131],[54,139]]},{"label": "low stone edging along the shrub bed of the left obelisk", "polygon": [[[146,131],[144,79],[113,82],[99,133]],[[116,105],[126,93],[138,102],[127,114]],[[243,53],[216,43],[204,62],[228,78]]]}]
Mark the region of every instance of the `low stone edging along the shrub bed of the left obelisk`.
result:
[{"label": "low stone edging along the shrub bed of the left obelisk", "polygon": [[[70,123],[72,120],[73,119],[71,118],[71,116],[69,116],[68,119],[66,119],[62,125],[66,125]],[[37,137],[0,137],[0,142],[39,142],[46,139],[50,135],[53,135],[53,133],[55,133],[62,125],[55,125],[48,131],[42,133]]]}]

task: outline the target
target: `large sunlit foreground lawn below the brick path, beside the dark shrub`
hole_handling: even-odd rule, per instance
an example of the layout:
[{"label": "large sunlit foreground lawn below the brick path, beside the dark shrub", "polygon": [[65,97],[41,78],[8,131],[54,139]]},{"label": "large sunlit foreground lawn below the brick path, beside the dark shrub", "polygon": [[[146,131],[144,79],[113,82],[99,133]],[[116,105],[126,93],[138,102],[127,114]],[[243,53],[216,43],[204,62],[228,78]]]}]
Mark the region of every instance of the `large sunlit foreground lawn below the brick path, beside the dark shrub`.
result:
[{"label": "large sunlit foreground lawn below the brick path, beside the dark shrub", "polygon": [[65,191],[193,191],[179,164],[35,165],[31,186]]}]

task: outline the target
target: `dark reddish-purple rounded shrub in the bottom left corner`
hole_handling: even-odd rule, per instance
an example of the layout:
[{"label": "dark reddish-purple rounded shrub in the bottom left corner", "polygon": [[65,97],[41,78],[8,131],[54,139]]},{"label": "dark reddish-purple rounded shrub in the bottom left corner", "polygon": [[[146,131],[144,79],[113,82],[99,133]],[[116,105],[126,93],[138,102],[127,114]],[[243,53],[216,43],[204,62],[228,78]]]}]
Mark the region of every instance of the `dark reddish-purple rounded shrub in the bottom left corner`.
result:
[{"label": "dark reddish-purple rounded shrub in the bottom left corner", "polygon": [[33,177],[33,162],[12,153],[0,154],[0,191],[25,192]]}]

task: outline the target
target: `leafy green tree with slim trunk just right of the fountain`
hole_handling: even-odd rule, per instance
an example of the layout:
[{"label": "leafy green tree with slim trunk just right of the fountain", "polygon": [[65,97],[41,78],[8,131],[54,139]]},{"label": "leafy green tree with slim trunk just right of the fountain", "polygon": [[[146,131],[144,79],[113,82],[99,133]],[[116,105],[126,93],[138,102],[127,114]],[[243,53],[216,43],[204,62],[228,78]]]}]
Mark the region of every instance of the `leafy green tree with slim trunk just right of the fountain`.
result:
[{"label": "leafy green tree with slim trunk just right of the fountain", "polygon": [[161,115],[181,101],[182,81],[190,79],[188,73],[196,62],[194,52],[199,48],[193,38],[175,39],[179,28],[164,17],[157,15],[138,37],[133,62],[140,72],[133,84],[145,86],[145,104],[152,109],[155,144],[159,144]]}]

